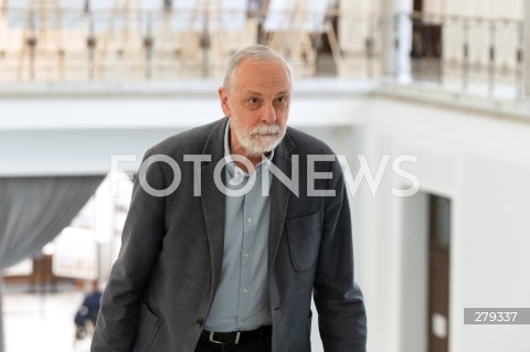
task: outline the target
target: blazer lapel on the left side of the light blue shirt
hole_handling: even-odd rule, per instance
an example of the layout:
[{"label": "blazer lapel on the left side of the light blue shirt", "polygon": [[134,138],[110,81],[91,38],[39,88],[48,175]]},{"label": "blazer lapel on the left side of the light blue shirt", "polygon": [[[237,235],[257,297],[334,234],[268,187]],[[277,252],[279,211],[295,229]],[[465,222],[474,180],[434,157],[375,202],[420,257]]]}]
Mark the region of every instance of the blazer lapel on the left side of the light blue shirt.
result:
[{"label": "blazer lapel on the left side of the light blue shirt", "polygon": [[[221,279],[224,248],[224,213],[225,195],[218,189],[214,182],[214,169],[218,162],[224,158],[224,130],[226,118],[218,124],[204,146],[203,154],[211,156],[210,162],[204,162],[200,168],[201,177],[201,202],[204,225],[206,227],[208,243],[210,247],[213,299]],[[221,172],[224,182],[224,172]]]}]

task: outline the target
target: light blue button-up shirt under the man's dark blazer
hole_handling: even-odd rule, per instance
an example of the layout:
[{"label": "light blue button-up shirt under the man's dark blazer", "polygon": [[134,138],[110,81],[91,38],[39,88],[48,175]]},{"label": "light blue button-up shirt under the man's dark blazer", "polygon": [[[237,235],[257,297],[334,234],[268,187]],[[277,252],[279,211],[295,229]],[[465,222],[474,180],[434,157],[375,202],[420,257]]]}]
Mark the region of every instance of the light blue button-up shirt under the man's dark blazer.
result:
[{"label": "light blue button-up shirt under the man's dark blazer", "polygon": [[[255,167],[254,182],[230,157],[227,125],[224,154],[229,158],[226,186],[231,190],[248,186],[250,191],[225,198],[221,281],[204,329],[216,332],[248,331],[272,323],[267,275],[271,199],[262,196],[262,173],[269,172],[274,150],[268,159]],[[265,180],[268,180],[271,189],[272,178]]]}]

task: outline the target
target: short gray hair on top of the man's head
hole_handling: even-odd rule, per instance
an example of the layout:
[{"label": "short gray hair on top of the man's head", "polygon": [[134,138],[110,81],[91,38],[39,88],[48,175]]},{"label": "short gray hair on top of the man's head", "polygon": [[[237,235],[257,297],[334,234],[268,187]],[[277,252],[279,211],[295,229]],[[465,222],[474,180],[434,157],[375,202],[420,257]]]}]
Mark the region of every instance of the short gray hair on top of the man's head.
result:
[{"label": "short gray hair on top of the man's head", "polygon": [[255,44],[240,50],[230,58],[223,79],[223,88],[226,92],[230,92],[234,84],[235,68],[237,68],[237,66],[246,60],[279,61],[284,64],[285,70],[287,70],[289,81],[292,79],[289,64],[284,57],[282,57],[282,55],[268,46]]}]

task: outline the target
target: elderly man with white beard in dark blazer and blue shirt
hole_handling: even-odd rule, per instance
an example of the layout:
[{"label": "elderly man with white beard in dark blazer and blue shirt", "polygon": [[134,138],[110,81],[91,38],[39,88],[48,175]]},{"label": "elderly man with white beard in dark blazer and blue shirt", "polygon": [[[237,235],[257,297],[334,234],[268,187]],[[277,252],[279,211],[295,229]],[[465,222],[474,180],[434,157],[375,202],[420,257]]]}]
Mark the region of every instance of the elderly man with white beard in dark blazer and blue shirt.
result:
[{"label": "elderly man with white beard in dark blazer and blue shirt", "polygon": [[93,352],[365,351],[350,210],[332,151],[287,127],[292,77],[253,45],[219,88],[225,118],[149,149]]}]

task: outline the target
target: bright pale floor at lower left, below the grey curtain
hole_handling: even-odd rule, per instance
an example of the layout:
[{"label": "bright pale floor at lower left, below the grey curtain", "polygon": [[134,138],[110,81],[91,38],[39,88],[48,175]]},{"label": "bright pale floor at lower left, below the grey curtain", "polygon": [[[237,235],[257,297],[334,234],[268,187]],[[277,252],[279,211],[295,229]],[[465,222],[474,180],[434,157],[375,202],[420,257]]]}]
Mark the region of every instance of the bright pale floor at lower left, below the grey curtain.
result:
[{"label": "bright pale floor at lower left, below the grey curtain", "polygon": [[6,287],[3,323],[6,352],[85,352],[89,339],[75,341],[74,316],[83,291],[61,287],[54,294],[30,294]]}]

